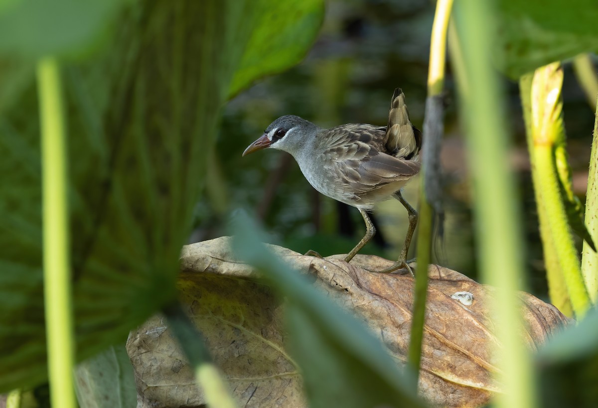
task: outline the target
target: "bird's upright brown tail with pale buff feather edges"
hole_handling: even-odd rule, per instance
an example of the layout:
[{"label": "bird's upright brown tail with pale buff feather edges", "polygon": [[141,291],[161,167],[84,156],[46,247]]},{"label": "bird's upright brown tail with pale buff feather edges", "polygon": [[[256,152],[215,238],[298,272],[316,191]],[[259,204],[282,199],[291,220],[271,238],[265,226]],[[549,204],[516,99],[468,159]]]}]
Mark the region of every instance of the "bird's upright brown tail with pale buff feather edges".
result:
[{"label": "bird's upright brown tail with pale buff feather edges", "polygon": [[390,101],[385,146],[392,156],[406,160],[416,159],[422,147],[422,132],[409,120],[405,94],[401,88],[395,89]]}]

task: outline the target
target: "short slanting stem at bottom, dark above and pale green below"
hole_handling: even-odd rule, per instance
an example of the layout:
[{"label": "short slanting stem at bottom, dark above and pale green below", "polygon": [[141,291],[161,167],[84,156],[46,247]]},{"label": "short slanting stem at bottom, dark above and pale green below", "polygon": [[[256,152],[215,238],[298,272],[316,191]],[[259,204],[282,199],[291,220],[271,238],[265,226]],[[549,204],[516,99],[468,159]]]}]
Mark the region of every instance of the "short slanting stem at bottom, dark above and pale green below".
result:
[{"label": "short slanting stem at bottom, dark above and pale green below", "polygon": [[193,325],[179,303],[163,309],[169,328],[189,360],[197,383],[202,386],[206,404],[213,408],[234,408],[236,403],[228,392],[218,368],[203,342],[202,334]]}]

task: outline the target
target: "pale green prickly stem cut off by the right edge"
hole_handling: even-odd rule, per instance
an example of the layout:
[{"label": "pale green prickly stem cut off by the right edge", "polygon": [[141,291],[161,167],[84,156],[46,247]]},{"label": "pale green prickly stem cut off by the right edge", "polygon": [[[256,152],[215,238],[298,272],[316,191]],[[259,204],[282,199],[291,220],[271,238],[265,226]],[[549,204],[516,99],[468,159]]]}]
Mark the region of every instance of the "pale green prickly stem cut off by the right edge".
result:
[{"label": "pale green prickly stem cut off by the right edge", "polygon": [[[590,170],[588,172],[588,191],[585,194],[585,225],[588,232],[598,241],[598,103],[596,103],[596,119],[594,121],[594,140],[590,153]],[[581,274],[585,287],[593,303],[598,297],[598,254],[584,242],[581,258]]]}]

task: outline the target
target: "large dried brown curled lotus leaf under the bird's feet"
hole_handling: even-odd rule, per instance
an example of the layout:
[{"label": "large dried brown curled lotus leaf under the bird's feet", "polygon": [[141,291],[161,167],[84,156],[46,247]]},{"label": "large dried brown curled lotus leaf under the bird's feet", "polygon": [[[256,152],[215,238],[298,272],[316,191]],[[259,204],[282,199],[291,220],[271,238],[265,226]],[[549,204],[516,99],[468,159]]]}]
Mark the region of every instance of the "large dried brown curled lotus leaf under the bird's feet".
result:
[{"label": "large dried brown curled lotus leaf under the bird's feet", "polygon": [[[414,284],[410,275],[362,269],[392,265],[373,255],[357,255],[346,264],[338,256],[320,259],[278,246],[270,249],[295,269],[312,275],[315,285],[340,305],[354,310],[397,363],[407,360]],[[284,351],[284,303],[257,280],[251,267],[236,259],[230,238],[185,246],[181,271],[182,301],[240,404],[304,406],[301,378]],[[493,382],[497,364],[492,355],[498,340],[488,309],[493,290],[437,265],[429,266],[428,275],[420,393],[437,406],[487,404],[499,391]],[[532,350],[570,322],[556,307],[530,294],[521,293],[520,298],[526,322],[523,337]],[[163,318],[155,316],[133,331],[127,349],[142,406],[205,402]]]}]

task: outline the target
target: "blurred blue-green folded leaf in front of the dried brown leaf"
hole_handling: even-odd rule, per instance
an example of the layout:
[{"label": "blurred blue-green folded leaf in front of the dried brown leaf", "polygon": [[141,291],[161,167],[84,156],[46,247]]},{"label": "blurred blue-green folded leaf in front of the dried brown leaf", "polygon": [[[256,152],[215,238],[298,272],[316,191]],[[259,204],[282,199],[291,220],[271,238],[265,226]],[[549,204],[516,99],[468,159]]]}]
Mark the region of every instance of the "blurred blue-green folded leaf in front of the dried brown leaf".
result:
[{"label": "blurred blue-green folded leaf in front of the dried brown leaf", "polygon": [[301,367],[310,407],[425,406],[401,363],[357,319],[268,252],[257,225],[240,216],[234,230],[234,252],[288,301],[289,351]]}]

